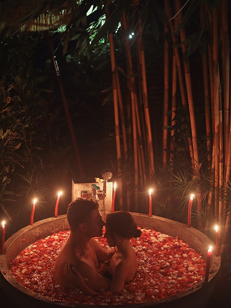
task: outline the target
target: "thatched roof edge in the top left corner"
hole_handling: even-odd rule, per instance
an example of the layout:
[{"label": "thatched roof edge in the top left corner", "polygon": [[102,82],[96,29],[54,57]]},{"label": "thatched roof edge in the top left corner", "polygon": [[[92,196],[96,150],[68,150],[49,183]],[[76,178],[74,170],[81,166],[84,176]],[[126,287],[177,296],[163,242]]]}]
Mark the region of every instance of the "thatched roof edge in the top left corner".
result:
[{"label": "thatched roof edge in the top left corner", "polygon": [[[61,1],[62,2],[62,1]],[[68,1],[59,7],[51,7],[44,0],[5,1],[0,9],[0,33],[5,35],[25,31],[55,30],[71,20],[72,6]]]}]

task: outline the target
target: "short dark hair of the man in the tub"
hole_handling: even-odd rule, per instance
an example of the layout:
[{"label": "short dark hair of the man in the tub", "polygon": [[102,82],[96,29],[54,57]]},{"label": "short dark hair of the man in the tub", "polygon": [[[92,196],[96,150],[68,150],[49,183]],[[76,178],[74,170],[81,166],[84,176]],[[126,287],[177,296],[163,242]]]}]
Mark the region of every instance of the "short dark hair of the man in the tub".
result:
[{"label": "short dark hair of the man in the tub", "polygon": [[92,210],[98,208],[98,202],[93,199],[78,198],[72,201],[67,208],[67,221],[70,230],[74,231],[80,223],[89,223]]}]

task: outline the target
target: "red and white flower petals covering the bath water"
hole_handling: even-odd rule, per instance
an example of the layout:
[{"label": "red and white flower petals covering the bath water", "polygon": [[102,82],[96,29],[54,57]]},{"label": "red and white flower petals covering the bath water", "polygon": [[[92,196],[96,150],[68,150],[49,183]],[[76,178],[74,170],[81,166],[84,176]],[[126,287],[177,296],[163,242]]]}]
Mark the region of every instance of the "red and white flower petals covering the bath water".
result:
[{"label": "red and white flower petals covering the bath water", "polygon": [[[49,300],[126,305],[175,295],[204,278],[205,262],[201,254],[178,237],[142,229],[140,238],[131,239],[138,260],[134,279],[126,283],[118,295],[104,292],[97,298],[91,297],[78,289],[61,287],[52,278],[55,259],[68,235],[68,231],[60,231],[26,247],[11,262],[10,272],[14,279]],[[105,238],[97,238],[97,241],[109,249]],[[106,267],[106,262],[101,263],[99,272],[103,273]]]}]

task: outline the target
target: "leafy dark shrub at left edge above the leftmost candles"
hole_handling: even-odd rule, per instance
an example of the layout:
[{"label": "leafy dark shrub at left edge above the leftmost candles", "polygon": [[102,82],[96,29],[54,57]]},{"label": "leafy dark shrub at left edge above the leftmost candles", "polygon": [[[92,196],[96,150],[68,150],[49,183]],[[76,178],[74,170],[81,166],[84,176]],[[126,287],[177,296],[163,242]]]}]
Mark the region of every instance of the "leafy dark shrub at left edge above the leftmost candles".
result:
[{"label": "leafy dark shrub at left edge above the leftmost candles", "polygon": [[[4,76],[0,81],[0,205],[5,214],[7,210],[4,203],[16,198],[14,183],[11,181],[15,169],[24,169],[27,162],[32,167],[38,141],[44,137],[44,132],[39,129],[40,121],[43,121],[46,114],[44,103],[38,99],[37,94],[34,95],[29,73],[26,72],[26,79],[23,79],[24,70],[18,68],[18,72],[22,78],[16,75],[12,82]],[[9,184],[14,194],[7,190]]]}]

